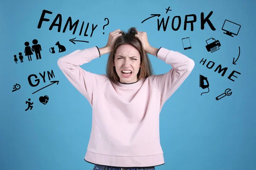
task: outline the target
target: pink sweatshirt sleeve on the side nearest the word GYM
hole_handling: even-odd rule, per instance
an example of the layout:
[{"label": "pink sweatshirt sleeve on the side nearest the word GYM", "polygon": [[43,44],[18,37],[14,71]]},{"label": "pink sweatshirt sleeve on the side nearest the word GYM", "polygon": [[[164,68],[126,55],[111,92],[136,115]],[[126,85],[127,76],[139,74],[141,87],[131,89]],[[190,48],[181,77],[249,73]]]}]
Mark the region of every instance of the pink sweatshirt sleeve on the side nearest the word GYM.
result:
[{"label": "pink sweatshirt sleeve on the side nearest the word GYM", "polygon": [[76,50],[58,59],[58,67],[70,83],[89,101],[92,106],[92,95],[97,85],[104,79],[103,75],[90,73],[80,66],[99,58],[100,52],[97,46]]}]

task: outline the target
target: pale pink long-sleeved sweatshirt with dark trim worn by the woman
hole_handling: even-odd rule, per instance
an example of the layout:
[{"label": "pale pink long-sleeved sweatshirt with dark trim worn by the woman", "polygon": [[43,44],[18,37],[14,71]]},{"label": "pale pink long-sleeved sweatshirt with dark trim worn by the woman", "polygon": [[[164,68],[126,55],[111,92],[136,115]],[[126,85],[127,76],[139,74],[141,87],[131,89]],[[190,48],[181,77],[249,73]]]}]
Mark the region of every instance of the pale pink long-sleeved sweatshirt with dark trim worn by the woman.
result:
[{"label": "pale pink long-sleeved sweatshirt with dark trim worn by the woman", "polygon": [[114,84],[105,74],[80,66],[98,59],[97,46],[58,59],[58,66],[92,107],[92,129],[84,160],[115,167],[164,164],[159,116],[163,104],[189,76],[195,62],[161,47],[157,58],[172,66],[165,74]]}]

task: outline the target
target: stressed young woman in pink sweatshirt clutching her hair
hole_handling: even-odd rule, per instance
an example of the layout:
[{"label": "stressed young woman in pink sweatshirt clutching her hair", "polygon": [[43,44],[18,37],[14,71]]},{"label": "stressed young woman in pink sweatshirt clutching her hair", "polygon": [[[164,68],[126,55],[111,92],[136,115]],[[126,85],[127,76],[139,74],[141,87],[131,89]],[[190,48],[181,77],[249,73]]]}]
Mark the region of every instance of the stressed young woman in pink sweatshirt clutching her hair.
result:
[{"label": "stressed young woman in pink sweatshirt clutching her hair", "polygon": [[[80,66],[109,54],[106,74]],[[152,74],[148,54],[172,68]],[[163,104],[189,76],[195,62],[177,51],[149,45],[146,32],[111,32],[103,48],[76,50],[58,66],[92,107],[92,129],[84,160],[93,170],[154,170],[164,164],[159,115]]]}]

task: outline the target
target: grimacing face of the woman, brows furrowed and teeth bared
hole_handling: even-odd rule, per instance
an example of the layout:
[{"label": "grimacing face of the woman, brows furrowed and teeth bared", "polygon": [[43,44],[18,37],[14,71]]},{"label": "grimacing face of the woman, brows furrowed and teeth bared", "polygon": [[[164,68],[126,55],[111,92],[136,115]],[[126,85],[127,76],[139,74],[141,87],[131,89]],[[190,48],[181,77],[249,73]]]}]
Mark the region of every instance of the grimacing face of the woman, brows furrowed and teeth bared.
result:
[{"label": "grimacing face of the woman, brows furrowed and teeth bared", "polygon": [[[137,82],[137,74],[140,70],[140,53],[132,45],[120,45],[116,49],[115,59],[113,65],[116,68],[116,73],[122,83],[133,83]],[[130,70],[131,74],[129,77],[125,77],[122,74],[123,70]]]}]

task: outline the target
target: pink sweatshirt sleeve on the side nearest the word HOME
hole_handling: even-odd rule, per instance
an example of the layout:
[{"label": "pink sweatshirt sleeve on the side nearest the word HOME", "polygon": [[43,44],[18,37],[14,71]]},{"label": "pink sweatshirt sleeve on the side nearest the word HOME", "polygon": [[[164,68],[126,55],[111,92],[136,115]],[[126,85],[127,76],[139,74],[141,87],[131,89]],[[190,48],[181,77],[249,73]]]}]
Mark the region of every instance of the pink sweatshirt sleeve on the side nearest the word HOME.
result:
[{"label": "pink sweatshirt sleeve on the side nearest the word HOME", "polygon": [[149,77],[152,84],[162,94],[163,105],[189,76],[195,66],[195,62],[177,51],[163,47],[160,47],[157,51],[157,58],[172,66],[172,69],[165,74],[153,74]]}]

